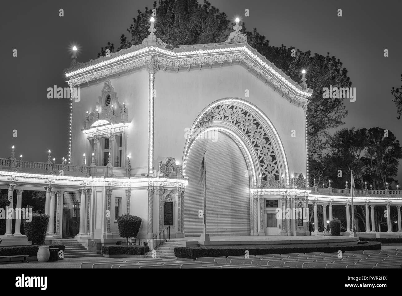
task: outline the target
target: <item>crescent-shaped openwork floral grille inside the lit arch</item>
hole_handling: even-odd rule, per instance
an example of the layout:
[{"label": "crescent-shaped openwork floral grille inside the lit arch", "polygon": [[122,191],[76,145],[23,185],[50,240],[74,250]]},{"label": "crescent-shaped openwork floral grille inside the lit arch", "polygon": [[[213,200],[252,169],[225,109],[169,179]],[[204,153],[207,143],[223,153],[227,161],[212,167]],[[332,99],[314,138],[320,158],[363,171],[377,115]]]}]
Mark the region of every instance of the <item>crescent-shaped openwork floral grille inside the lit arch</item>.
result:
[{"label": "crescent-shaped openwork floral grille inside the lit arch", "polygon": [[256,151],[263,187],[279,187],[280,172],[278,159],[267,131],[258,120],[242,107],[224,104],[208,110],[198,121],[196,128],[211,121],[227,121],[238,127]]}]

